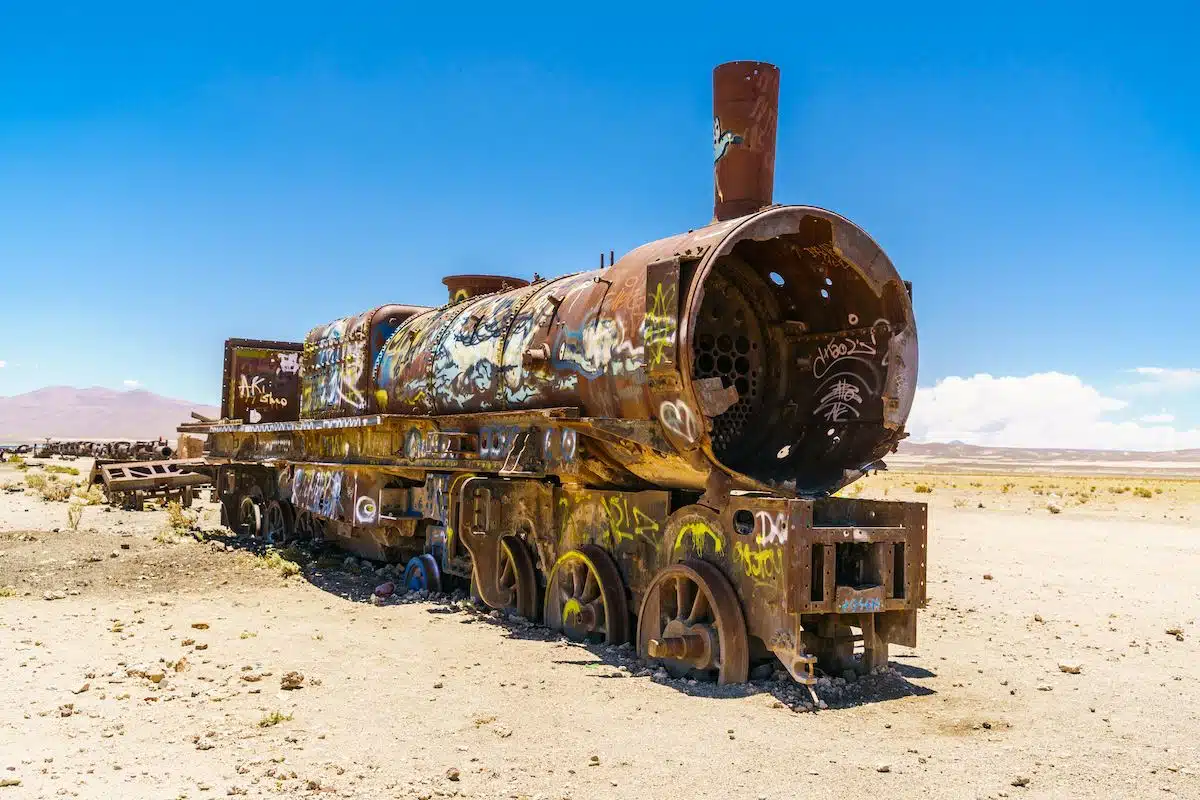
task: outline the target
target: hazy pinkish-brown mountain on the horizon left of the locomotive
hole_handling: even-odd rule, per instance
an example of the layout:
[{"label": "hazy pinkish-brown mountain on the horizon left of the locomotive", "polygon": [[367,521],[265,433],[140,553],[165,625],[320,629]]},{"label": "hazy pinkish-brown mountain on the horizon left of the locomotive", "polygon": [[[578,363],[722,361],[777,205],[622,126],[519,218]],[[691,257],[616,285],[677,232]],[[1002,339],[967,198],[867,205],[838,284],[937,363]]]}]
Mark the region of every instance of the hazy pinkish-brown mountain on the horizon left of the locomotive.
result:
[{"label": "hazy pinkish-brown mountain on the horizon left of the locomotive", "polygon": [[144,390],[47,386],[0,397],[0,443],[54,439],[174,439],[191,411],[215,417],[220,409]]}]

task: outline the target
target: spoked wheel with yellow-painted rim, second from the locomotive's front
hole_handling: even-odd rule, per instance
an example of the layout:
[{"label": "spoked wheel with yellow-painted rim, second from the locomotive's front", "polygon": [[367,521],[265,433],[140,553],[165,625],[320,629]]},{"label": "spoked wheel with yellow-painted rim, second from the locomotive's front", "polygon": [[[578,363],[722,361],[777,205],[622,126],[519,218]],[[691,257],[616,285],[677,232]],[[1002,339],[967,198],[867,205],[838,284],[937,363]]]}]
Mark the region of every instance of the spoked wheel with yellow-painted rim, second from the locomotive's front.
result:
[{"label": "spoked wheel with yellow-painted rim, second from the locomotive's front", "polygon": [[546,625],[568,638],[629,640],[629,603],[612,557],[594,545],[563,554],[546,581]]}]

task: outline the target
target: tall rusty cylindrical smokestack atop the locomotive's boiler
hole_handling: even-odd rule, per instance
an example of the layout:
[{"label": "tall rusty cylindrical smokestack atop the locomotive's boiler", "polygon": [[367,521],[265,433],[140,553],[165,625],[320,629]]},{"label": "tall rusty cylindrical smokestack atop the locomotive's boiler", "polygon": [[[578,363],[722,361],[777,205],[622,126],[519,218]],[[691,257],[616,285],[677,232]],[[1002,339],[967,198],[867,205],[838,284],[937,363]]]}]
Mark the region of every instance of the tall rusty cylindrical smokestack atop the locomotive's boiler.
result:
[{"label": "tall rusty cylindrical smokestack atop the locomotive's boiler", "polygon": [[730,61],[713,70],[714,217],[732,219],[772,203],[779,67]]}]

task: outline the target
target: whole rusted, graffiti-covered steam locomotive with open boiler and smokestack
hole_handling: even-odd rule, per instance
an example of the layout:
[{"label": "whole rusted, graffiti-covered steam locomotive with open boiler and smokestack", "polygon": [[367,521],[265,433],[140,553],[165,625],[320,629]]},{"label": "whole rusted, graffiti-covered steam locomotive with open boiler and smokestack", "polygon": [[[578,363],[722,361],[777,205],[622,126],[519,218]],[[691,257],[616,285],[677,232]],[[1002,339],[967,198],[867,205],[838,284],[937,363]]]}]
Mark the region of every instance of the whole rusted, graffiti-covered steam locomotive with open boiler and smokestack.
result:
[{"label": "whole rusted, graffiti-covered steam locomotive with open boiler and smokestack", "polygon": [[772,205],[778,91],[770,65],[715,70],[709,225],[227,342],[224,419],[180,429],[209,434],[232,524],[722,682],[914,645],[925,506],[832,497],[905,435],[911,293],[850,221]]}]

